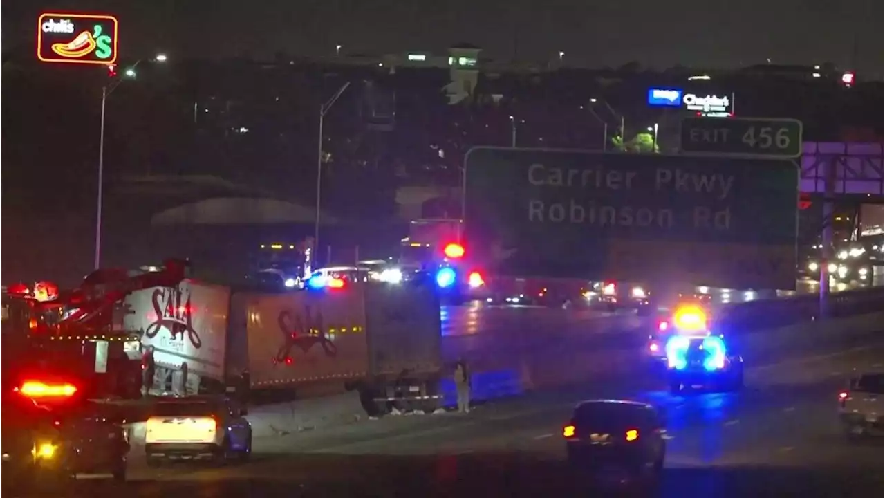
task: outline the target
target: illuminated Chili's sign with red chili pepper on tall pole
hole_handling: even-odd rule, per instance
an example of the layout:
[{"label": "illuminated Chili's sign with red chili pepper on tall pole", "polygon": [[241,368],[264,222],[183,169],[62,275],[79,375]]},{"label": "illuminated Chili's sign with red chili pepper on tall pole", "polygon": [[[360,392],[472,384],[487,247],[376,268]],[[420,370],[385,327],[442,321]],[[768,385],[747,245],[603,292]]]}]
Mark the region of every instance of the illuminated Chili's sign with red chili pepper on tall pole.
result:
[{"label": "illuminated Chili's sign with red chili pepper on tall pole", "polygon": [[117,60],[117,18],[46,12],[37,20],[42,62],[112,64]]}]

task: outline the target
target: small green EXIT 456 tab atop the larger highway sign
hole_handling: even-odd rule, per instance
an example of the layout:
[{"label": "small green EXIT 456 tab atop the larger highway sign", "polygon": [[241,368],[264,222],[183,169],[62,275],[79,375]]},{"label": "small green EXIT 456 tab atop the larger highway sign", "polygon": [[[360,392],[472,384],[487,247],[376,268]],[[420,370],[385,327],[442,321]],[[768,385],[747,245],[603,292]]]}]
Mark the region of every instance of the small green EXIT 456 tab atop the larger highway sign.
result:
[{"label": "small green EXIT 456 tab atop the larger highway sign", "polygon": [[802,155],[802,121],[769,118],[682,120],[682,152],[797,158]]}]

